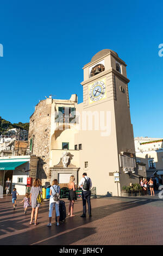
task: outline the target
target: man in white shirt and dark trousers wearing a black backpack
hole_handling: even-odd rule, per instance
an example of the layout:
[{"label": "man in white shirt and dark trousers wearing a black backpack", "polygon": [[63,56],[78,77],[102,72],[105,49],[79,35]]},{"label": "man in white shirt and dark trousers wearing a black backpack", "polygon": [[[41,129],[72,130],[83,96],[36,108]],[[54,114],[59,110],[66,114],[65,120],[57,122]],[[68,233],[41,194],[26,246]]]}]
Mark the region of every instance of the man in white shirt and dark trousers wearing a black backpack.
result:
[{"label": "man in white shirt and dark trousers wearing a black backpack", "polygon": [[86,200],[88,205],[89,216],[91,217],[91,187],[92,181],[87,177],[86,173],[83,173],[83,178],[79,182],[79,187],[82,187],[82,199],[83,199],[83,215],[80,217],[86,217]]}]

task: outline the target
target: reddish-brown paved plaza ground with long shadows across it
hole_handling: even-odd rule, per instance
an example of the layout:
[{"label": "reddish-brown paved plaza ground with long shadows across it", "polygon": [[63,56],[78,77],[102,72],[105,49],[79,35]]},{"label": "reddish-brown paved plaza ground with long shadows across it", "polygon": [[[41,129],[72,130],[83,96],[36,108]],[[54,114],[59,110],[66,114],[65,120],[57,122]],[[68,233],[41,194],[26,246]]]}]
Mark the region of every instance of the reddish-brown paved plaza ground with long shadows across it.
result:
[{"label": "reddish-brown paved plaza ground with long shadows across it", "polygon": [[[0,199],[0,245],[162,245],[163,200],[158,195],[92,199],[92,217],[81,218],[82,200],[74,204],[74,217],[59,227],[47,227],[49,201],[39,209],[39,225],[29,225],[22,196],[12,209],[11,196]],[[65,199],[68,212],[68,200]]]}]

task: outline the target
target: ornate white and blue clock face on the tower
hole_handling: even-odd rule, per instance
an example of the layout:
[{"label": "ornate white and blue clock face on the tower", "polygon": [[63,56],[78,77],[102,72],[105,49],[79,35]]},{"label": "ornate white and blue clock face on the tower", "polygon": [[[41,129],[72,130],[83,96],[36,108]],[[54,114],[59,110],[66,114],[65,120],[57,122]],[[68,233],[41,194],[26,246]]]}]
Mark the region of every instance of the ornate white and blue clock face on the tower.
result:
[{"label": "ornate white and blue clock face on the tower", "polygon": [[[104,79],[103,79],[104,80]],[[105,98],[106,86],[105,81],[96,81],[90,85],[89,97],[90,102],[96,102]]]}]

